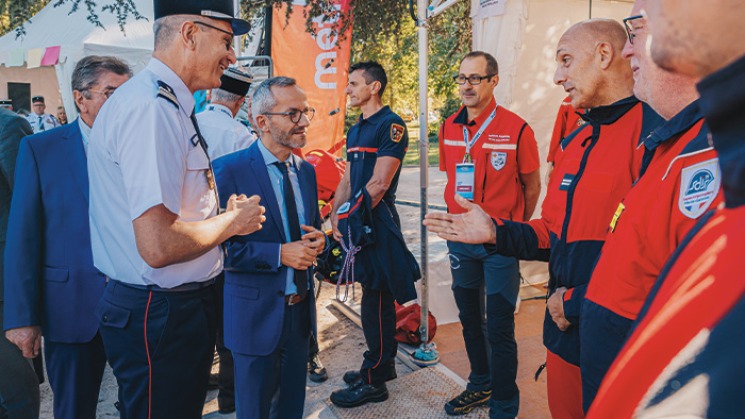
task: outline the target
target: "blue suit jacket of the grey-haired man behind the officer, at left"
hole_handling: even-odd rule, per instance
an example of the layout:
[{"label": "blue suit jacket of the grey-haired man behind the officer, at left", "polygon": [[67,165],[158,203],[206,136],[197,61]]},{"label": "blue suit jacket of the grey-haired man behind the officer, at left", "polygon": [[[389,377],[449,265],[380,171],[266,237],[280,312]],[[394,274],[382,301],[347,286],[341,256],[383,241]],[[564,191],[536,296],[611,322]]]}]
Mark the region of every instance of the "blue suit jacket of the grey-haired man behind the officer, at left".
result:
[{"label": "blue suit jacket of the grey-haired man behind the officer, at left", "polygon": [[41,326],[53,342],[88,342],[106,285],[93,266],[88,166],[77,120],[24,138],[5,248],[4,329]]}]

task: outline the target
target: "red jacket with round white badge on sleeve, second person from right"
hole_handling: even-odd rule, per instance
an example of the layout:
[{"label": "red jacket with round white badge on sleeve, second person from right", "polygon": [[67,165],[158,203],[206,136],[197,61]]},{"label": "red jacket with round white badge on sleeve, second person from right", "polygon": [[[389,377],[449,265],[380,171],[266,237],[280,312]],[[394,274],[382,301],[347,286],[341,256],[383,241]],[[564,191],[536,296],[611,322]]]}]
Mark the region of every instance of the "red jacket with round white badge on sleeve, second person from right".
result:
[{"label": "red jacket with round white badge on sleeve, second person from right", "polygon": [[650,163],[618,205],[585,295],[629,320],[636,319],[683,237],[722,201],[719,161],[698,101],[644,145]]}]

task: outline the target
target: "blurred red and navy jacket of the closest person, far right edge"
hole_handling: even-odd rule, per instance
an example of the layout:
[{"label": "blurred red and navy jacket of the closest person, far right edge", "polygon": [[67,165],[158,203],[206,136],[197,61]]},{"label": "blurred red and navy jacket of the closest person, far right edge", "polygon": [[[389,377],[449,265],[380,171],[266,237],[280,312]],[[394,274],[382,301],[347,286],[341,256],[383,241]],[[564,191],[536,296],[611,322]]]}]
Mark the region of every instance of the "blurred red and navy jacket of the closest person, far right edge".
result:
[{"label": "blurred red and navy jacket of the closest person, far right edge", "polygon": [[725,207],[663,269],[588,418],[742,417],[745,405],[745,57],[698,85]]}]

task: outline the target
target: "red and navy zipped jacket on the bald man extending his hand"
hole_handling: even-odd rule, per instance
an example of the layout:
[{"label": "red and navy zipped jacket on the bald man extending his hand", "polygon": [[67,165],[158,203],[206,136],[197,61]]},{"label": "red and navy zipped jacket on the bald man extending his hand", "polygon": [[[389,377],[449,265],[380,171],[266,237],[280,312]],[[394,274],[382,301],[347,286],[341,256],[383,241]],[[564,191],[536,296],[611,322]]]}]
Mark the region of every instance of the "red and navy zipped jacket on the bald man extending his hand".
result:
[{"label": "red and navy zipped jacket on the bald man extending his hand", "polygon": [[528,223],[497,220],[496,247],[490,249],[547,260],[549,293],[568,288],[564,315],[572,326],[560,331],[546,311],[543,343],[574,365],[579,365],[581,303],[608,223],[638,177],[643,138],[662,122],[635,97],[590,109],[582,118],[587,123],[557,152],[541,218]]}]

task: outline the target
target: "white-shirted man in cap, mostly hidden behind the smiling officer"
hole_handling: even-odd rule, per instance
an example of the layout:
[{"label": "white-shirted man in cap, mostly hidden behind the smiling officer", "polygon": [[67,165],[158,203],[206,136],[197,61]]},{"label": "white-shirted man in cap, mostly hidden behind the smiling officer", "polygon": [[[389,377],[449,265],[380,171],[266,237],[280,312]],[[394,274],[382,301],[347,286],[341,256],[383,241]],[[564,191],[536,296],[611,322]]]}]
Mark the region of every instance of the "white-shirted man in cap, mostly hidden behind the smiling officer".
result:
[{"label": "white-shirted man in cap, mostly hidden behind the smiling officer", "polygon": [[253,77],[241,70],[225,70],[220,87],[212,89],[212,103],[197,114],[199,129],[209,146],[210,159],[243,150],[256,140],[256,135],[234,119],[246,100],[251,81]]}]

